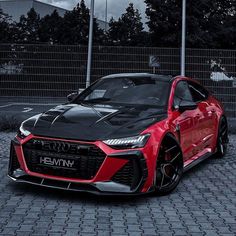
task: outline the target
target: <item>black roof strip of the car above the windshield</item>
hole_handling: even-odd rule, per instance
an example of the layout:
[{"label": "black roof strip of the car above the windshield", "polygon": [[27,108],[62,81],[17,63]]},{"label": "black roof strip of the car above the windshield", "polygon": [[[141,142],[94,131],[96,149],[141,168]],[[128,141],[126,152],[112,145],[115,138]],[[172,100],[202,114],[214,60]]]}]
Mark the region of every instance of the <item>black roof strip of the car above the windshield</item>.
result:
[{"label": "black roof strip of the car above the windshield", "polygon": [[151,74],[151,73],[120,73],[120,74],[111,74],[104,76],[103,79],[114,79],[114,78],[145,78],[145,77],[150,77],[154,79],[158,79],[160,81],[166,81],[166,82],[171,82],[174,77],[171,75],[159,75],[159,74]]}]

